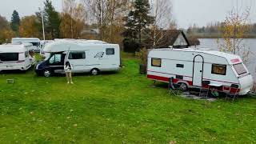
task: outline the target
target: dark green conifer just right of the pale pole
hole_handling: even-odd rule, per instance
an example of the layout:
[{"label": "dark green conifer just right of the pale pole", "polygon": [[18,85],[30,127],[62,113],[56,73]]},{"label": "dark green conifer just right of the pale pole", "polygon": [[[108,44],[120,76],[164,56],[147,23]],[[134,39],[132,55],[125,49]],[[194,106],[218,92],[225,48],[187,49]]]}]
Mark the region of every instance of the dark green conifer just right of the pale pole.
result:
[{"label": "dark green conifer just right of the pale pole", "polygon": [[51,39],[59,38],[60,30],[59,26],[61,23],[61,19],[59,17],[58,12],[54,9],[52,2],[50,0],[46,0],[44,2],[44,14],[45,14],[45,24],[46,24],[46,33],[50,34]]}]

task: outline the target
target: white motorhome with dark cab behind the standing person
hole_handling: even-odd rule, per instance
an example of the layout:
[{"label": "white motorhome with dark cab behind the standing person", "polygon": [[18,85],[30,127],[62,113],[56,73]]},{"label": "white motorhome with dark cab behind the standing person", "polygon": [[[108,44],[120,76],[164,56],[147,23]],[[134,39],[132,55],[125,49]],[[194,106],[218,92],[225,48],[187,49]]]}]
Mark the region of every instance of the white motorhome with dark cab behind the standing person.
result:
[{"label": "white motorhome with dark cab behind the standing person", "polygon": [[44,48],[46,58],[36,66],[36,73],[50,77],[64,73],[64,63],[73,66],[73,73],[115,71],[120,67],[120,50],[117,44],[92,44],[84,42],[51,42]]}]

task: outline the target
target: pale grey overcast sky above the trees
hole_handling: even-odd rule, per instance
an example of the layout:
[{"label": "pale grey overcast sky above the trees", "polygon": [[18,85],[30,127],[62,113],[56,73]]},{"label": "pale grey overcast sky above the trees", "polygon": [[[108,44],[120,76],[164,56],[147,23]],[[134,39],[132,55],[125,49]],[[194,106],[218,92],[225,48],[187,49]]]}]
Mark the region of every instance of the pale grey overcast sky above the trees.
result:
[{"label": "pale grey overcast sky above the trees", "polygon": [[[256,0],[172,0],[174,18],[179,28],[187,28],[196,23],[206,26],[209,22],[223,21],[226,13],[236,7],[240,10],[251,6],[250,20],[256,22]],[[0,0],[0,14],[10,20],[13,10],[18,10],[21,17],[34,14],[43,0]],[[62,10],[62,0],[53,0],[55,8]],[[241,7],[241,8],[240,8]]]}]

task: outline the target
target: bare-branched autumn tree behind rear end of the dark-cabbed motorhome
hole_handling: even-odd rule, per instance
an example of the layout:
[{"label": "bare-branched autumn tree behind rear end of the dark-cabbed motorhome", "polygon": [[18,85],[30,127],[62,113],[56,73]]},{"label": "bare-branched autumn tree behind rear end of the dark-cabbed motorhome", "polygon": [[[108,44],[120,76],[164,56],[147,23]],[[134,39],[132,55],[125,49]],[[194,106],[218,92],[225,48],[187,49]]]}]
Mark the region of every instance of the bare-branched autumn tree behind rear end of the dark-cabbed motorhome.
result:
[{"label": "bare-branched autumn tree behind rear end of the dark-cabbed motorhome", "polygon": [[[123,17],[129,8],[129,0],[83,0],[92,23],[97,23],[100,39],[106,42],[122,42]],[[118,35],[118,36],[117,36]]]}]

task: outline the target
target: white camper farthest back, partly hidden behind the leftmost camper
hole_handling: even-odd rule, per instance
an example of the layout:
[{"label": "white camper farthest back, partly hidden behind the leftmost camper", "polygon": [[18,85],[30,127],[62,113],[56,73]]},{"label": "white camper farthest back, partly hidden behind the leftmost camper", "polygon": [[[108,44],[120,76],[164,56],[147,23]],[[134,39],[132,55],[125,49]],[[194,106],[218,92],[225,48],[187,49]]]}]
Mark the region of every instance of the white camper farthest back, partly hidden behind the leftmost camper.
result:
[{"label": "white camper farthest back, partly hidden behind the leftmost camper", "polygon": [[41,50],[39,38],[12,38],[11,43],[12,44],[31,43],[33,45],[31,46],[31,50],[34,50],[34,52],[38,52],[38,53]]}]

